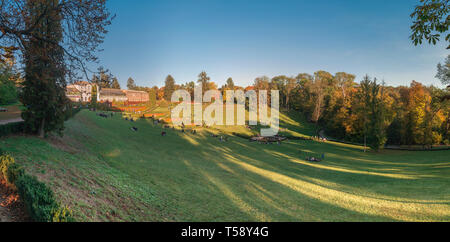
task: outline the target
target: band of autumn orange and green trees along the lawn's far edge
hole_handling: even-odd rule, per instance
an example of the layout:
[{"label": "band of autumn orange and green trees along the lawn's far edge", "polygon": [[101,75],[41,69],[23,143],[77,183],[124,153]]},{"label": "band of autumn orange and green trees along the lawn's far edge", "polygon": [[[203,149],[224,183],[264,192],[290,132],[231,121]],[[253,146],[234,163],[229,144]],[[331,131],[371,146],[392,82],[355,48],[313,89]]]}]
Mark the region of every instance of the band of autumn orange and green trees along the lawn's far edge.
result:
[{"label": "band of autumn orange and green trees along the lawn's far edge", "polygon": [[[198,84],[203,91],[279,90],[280,105],[297,110],[317,124],[319,130],[336,139],[366,143],[373,149],[390,145],[450,144],[449,89],[424,86],[412,81],[410,86],[392,87],[365,76],[359,83],[355,75],[326,71],[255,79],[249,87],[239,87],[228,78],[218,88],[205,72]],[[195,83],[177,85],[172,76],[158,88],[135,87],[151,91],[157,99],[170,97],[177,89],[194,92]],[[193,97],[193,95],[191,95]],[[270,100],[270,98],[269,98]]]}]

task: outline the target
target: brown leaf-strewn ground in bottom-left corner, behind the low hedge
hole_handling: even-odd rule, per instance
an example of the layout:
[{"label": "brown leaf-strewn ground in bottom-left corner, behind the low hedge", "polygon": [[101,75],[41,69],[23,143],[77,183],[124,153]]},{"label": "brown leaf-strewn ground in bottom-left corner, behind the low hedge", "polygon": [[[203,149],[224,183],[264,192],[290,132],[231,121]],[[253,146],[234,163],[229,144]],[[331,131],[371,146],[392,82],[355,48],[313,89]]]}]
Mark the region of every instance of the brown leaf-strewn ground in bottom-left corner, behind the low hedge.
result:
[{"label": "brown leaf-strewn ground in bottom-left corner, behind the low hedge", "polygon": [[0,181],[0,222],[29,222],[19,196]]}]

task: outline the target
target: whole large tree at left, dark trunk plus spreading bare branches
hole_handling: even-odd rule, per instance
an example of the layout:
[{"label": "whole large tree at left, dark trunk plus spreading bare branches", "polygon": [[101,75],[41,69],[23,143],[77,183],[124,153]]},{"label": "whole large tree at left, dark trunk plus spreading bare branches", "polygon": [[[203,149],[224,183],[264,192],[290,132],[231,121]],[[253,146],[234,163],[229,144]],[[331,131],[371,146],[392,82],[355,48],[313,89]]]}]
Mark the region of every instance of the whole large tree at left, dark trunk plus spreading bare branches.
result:
[{"label": "whole large tree at left, dark trunk plus spreading bare branches", "polygon": [[[94,53],[112,20],[106,1],[2,1],[1,9],[0,49],[19,51],[23,62],[24,80],[16,85],[25,128],[41,136],[61,133],[70,108],[66,78],[88,78],[86,63],[97,60]],[[4,58],[0,53],[0,62]]]}]

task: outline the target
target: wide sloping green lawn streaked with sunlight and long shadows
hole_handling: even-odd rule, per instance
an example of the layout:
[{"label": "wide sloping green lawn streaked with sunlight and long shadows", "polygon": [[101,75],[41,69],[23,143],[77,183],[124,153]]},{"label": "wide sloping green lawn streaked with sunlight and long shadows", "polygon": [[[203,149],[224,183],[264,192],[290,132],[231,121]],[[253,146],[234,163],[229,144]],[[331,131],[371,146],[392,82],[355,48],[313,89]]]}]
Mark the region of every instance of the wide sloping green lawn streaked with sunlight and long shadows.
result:
[{"label": "wide sloping green lawn streaked with sunlight and long shadows", "polygon": [[[293,132],[314,130],[292,113],[282,119]],[[150,120],[86,110],[66,127],[64,138],[16,136],[0,147],[81,221],[450,221],[450,151],[225,143],[209,129],[161,137]],[[304,160],[323,153],[322,163]]]}]

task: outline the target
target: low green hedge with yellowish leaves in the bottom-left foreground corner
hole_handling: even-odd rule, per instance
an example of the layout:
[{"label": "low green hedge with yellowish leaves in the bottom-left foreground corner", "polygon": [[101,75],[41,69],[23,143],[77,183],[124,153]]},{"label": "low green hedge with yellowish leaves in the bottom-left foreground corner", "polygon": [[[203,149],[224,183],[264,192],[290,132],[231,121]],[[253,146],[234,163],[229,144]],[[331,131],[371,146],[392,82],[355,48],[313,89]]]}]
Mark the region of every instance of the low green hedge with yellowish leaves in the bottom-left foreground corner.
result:
[{"label": "low green hedge with yellowish leaves in the bottom-left foreground corner", "polygon": [[72,211],[62,207],[53,191],[45,184],[25,173],[14,158],[0,150],[0,178],[14,185],[25,207],[36,222],[73,222]]}]

